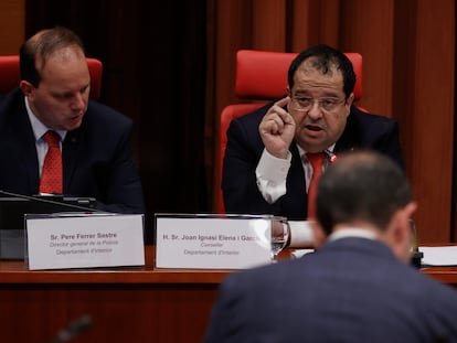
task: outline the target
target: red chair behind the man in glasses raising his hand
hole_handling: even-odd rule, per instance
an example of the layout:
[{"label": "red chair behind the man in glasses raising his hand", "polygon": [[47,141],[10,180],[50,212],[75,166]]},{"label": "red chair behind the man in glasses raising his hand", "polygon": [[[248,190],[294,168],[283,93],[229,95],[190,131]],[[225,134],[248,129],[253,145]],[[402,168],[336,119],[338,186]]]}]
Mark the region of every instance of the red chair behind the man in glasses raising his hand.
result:
[{"label": "red chair behind the man in glasses raising his hand", "polygon": [[[346,55],[351,60],[357,75],[354,86],[354,103],[357,103],[362,97],[362,55],[359,53],[346,53]],[[297,53],[254,50],[240,50],[236,53],[235,94],[240,99],[249,100],[249,103],[228,105],[221,112],[220,161],[216,165],[219,180],[216,184],[220,185],[222,180],[222,163],[230,122],[286,94],[287,71],[295,56]],[[219,213],[225,212],[221,187],[219,189],[216,210]]]}]

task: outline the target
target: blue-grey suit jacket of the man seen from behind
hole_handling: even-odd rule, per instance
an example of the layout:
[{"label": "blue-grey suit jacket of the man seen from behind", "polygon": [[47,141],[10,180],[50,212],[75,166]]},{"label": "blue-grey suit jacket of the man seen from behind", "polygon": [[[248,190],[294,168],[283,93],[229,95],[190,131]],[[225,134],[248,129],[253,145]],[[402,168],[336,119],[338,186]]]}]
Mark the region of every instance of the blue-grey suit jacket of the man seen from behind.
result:
[{"label": "blue-grey suit jacket of the man seen from behind", "polygon": [[457,342],[456,319],[455,289],[380,242],[348,237],[230,275],[203,342]]}]

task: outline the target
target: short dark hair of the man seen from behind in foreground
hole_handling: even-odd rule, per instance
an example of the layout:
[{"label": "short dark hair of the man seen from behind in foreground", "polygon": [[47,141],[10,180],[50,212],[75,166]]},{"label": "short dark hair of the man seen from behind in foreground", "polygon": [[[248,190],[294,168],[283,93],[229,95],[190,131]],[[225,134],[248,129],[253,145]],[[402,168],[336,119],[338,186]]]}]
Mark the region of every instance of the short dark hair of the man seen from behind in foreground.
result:
[{"label": "short dark hair of the man seen from behind in foreground", "polygon": [[354,221],[382,231],[411,201],[410,182],[392,159],[369,150],[346,152],[319,180],[317,217],[327,235]]}]

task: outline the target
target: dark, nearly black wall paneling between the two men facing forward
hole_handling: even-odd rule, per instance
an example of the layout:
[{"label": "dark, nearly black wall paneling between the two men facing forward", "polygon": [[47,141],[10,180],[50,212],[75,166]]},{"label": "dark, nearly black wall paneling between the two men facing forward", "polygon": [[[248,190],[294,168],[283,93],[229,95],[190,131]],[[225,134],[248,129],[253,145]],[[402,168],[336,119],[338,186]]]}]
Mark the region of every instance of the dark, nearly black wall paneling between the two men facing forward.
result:
[{"label": "dark, nearly black wall paneling between the two men facing forward", "polygon": [[[152,242],[157,212],[204,212],[206,8],[196,1],[26,0],[29,34],[73,29],[105,66],[100,101],[135,121]],[[82,20],[84,18],[84,20]]]}]

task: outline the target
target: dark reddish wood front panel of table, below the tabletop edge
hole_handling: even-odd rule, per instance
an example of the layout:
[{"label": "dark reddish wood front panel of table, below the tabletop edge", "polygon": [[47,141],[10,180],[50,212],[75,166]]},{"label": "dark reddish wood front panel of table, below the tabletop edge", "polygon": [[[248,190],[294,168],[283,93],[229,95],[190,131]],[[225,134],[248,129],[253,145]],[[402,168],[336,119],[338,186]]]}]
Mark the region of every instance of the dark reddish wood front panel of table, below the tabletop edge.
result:
[{"label": "dark reddish wood front panel of table, below the tabletop edge", "polygon": [[[202,341],[216,286],[2,285],[3,342],[51,342],[83,315],[92,325],[72,342]],[[62,341],[63,342],[63,341]]]}]

